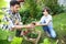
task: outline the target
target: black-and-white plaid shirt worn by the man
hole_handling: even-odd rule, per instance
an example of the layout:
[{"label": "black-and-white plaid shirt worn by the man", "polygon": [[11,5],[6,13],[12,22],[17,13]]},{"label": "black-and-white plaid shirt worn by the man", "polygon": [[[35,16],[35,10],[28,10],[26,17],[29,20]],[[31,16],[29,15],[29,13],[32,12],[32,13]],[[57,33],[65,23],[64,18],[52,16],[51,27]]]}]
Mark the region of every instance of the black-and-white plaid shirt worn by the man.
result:
[{"label": "black-and-white plaid shirt worn by the man", "polygon": [[[13,28],[15,25],[15,21],[21,22],[21,16],[19,13],[12,13],[11,10],[7,11],[7,14],[4,14],[3,18],[4,22],[8,22],[8,24],[2,24],[2,29],[3,30],[11,30],[11,28]],[[21,23],[22,24],[22,23]]]}]

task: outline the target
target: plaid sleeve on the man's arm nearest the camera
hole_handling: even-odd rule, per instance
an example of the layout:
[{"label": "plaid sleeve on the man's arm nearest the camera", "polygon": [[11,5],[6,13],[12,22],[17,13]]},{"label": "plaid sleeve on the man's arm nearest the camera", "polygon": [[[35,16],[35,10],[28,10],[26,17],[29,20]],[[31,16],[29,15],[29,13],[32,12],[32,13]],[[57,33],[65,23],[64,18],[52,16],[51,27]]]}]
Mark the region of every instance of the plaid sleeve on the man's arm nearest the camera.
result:
[{"label": "plaid sleeve on the man's arm nearest the camera", "polygon": [[4,15],[3,22],[7,22],[2,24],[2,29],[4,30],[10,30],[13,26],[13,23],[8,15]]}]

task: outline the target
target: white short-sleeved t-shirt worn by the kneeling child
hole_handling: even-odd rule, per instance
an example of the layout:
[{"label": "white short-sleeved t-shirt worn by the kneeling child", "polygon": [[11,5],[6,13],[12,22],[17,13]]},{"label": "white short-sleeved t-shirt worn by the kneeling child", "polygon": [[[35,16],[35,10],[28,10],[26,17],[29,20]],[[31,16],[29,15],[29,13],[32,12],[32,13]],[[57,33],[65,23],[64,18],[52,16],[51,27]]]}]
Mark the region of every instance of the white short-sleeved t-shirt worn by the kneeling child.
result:
[{"label": "white short-sleeved t-shirt worn by the kneeling child", "polygon": [[41,23],[41,24],[45,24],[48,20],[51,20],[51,22],[47,24],[47,26],[48,26],[48,28],[53,28],[53,22],[52,22],[52,15],[51,15],[51,14],[48,14],[47,16],[43,15],[43,16],[41,18],[40,23]]}]

